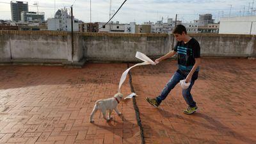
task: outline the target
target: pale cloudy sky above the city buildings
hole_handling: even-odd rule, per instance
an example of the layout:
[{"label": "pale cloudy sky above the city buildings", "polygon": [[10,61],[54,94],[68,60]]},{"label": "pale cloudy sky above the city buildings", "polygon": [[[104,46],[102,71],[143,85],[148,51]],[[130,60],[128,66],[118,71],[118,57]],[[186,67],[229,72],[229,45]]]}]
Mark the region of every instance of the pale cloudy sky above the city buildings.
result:
[{"label": "pale cloudy sky above the city buildings", "polygon": [[[20,0],[24,1],[24,0]],[[92,22],[107,22],[109,20],[109,1],[92,0]],[[256,8],[254,0],[127,0],[122,8],[116,13],[113,21],[120,23],[156,22],[163,17],[177,19],[183,22],[193,22],[199,14],[212,13],[217,22],[220,17],[235,15],[251,15]],[[27,0],[29,11],[37,12],[34,3],[38,3],[39,12],[45,12],[45,19],[54,17],[54,13],[60,8],[69,8],[74,3],[73,13],[76,19],[90,22],[90,0]],[[112,13],[118,10],[124,0],[112,0]],[[10,0],[0,0],[0,19],[12,19]],[[252,8],[253,3],[253,8]],[[250,7],[249,7],[250,4]],[[231,8],[231,11],[230,11]]]}]

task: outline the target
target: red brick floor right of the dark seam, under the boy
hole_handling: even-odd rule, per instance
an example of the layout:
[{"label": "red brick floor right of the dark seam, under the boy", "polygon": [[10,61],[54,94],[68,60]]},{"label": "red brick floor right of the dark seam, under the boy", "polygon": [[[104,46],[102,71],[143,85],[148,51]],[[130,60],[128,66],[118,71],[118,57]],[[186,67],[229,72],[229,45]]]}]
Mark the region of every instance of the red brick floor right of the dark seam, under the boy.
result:
[{"label": "red brick floor right of the dark seam, under the boy", "polygon": [[132,70],[132,84],[146,143],[256,143],[256,60],[203,59],[192,94],[200,109],[185,115],[177,85],[159,108],[156,97],[177,69],[177,61]]}]

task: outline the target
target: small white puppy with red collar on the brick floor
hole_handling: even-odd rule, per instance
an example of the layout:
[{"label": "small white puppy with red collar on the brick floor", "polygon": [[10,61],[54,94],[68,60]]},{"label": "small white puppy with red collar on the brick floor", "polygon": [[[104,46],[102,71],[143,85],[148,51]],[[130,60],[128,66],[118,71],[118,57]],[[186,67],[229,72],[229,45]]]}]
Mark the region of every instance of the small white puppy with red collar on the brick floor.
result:
[{"label": "small white puppy with red collar on the brick floor", "polygon": [[[102,112],[104,118],[107,121],[111,120],[111,113],[112,113],[113,110],[115,110],[118,115],[121,115],[121,113],[118,111],[116,106],[122,100],[122,98],[123,98],[122,93],[116,93],[114,95],[114,97],[111,97],[109,99],[97,100],[95,102],[95,106],[94,106],[94,108],[92,110],[92,113],[91,113],[91,116],[90,116],[90,122],[94,122],[93,115],[95,114],[95,112],[97,110],[100,110]],[[108,117],[107,117],[107,112],[109,112]]]}]

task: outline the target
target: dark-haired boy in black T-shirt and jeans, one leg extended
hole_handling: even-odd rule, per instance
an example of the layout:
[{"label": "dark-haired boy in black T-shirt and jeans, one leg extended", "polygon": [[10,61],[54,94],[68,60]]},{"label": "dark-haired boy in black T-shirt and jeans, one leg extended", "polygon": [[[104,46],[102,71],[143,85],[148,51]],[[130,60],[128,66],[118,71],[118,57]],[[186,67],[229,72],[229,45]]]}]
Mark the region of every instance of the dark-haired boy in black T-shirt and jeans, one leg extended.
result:
[{"label": "dark-haired boy in black T-shirt and jeans, one leg extended", "polygon": [[173,29],[173,35],[177,40],[177,44],[173,51],[168,52],[161,58],[157,58],[155,63],[157,64],[160,61],[170,58],[178,53],[179,68],[175,74],[173,74],[166,86],[164,86],[163,91],[158,97],[155,99],[150,99],[147,97],[146,99],[150,104],[158,107],[162,100],[164,100],[168,93],[170,93],[170,91],[175,87],[175,85],[179,83],[180,80],[186,79],[186,83],[190,82],[191,84],[189,85],[189,88],[182,90],[182,95],[188,104],[188,109],[184,110],[184,113],[192,114],[198,109],[190,91],[198,77],[198,66],[200,65],[200,45],[195,38],[191,38],[189,35],[187,35],[185,26],[181,24],[177,25],[175,29]]}]

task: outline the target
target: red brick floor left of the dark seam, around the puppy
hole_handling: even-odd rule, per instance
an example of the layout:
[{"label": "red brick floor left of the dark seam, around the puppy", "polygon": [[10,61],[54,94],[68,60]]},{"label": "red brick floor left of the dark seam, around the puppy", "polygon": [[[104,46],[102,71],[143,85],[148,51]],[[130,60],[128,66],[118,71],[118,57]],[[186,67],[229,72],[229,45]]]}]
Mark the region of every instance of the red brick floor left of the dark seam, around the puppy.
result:
[{"label": "red brick floor left of the dark seam, around the puppy", "polygon": [[[132,100],[106,122],[95,100],[113,97],[127,64],[86,64],[81,69],[0,67],[0,143],[141,143]],[[131,93],[126,81],[124,95]]]}]

